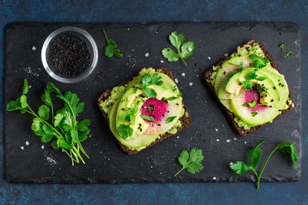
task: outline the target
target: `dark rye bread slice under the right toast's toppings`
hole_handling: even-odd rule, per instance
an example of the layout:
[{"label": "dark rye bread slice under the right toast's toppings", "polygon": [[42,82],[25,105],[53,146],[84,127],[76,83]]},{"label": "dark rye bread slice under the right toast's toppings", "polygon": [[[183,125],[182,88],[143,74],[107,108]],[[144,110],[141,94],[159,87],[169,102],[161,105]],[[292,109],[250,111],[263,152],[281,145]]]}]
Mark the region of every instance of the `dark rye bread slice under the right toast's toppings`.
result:
[{"label": "dark rye bread slice under the right toast's toppings", "polygon": [[[258,44],[260,46],[260,48],[262,49],[263,53],[264,53],[264,56],[266,58],[269,59],[269,62],[271,63],[271,66],[276,69],[279,73],[279,69],[277,68],[273,58],[271,55],[269,55],[269,53],[267,52],[267,50],[264,48],[264,46],[262,44],[260,44],[257,40],[253,39],[253,40],[249,40],[249,42],[247,42],[246,44],[244,44],[242,47],[245,47],[246,49],[248,49],[249,47],[251,47],[253,44]],[[236,53],[237,51],[235,51],[234,53]],[[222,60],[220,60],[218,62],[218,64],[216,64],[215,66],[221,66],[224,61],[230,59],[230,55],[226,56],[225,58],[223,58]],[[208,87],[209,91],[215,96],[216,100],[217,100],[217,103],[219,104],[219,106],[221,107],[223,113],[225,114],[225,116],[227,117],[229,123],[232,125],[232,127],[234,128],[234,130],[239,134],[239,135],[242,135],[242,136],[246,136],[248,134],[251,134],[253,132],[255,132],[256,130],[258,130],[259,128],[263,127],[264,125],[268,124],[269,122],[267,122],[266,124],[263,124],[263,125],[259,125],[259,126],[254,126],[254,127],[251,127],[247,130],[245,130],[243,127],[239,127],[238,124],[236,123],[236,121],[234,120],[235,118],[235,114],[230,112],[219,100],[218,96],[216,95],[216,92],[215,92],[215,89],[214,89],[214,86],[210,83],[210,77],[211,75],[213,74],[214,70],[213,68],[209,69],[208,71],[205,72],[204,76],[203,76],[203,79],[204,79],[204,82],[206,84],[206,86]],[[295,107],[295,104],[293,103],[293,97],[291,95],[291,92],[289,90],[289,97],[290,99],[292,100],[292,104],[291,105],[288,105],[288,108],[286,110],[282,110],[281,111],[281,114],[284,114],[286,113],[287,111],[291,110],[292,108]],[[279,117],[280,115],[278,115],[277,117]],[[277,118],[276,117],[276,118]],[[275,119],[276,119],[275,118]]]}]

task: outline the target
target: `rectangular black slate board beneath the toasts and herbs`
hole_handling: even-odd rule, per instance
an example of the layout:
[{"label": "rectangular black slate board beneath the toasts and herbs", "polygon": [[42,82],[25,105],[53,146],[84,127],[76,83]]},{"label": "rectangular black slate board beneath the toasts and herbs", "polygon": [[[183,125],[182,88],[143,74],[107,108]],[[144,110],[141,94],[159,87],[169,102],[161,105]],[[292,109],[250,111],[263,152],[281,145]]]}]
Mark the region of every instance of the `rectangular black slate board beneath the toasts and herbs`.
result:
[{"label": "rectangular black slate board beneath the toasts and herbs", "polygon": [[[48,76],[42,62],[41,49],[45,38],[55,29],[76,26],[88,31],[99,48],[96,71],[107,79],[94,80],[95,74],[78,84],[58,83]],[[123,58],[106,58],[103,54],[109,38],[118,44]],[[169,47],[168,35],[183,32],[186,40],[196,43],[194,55],[186,60],[169,63],[161,55]],[[285,75],[297,105],[271,125],[242,137],[228,124],[215,99],[202,81],[203,73],[215,65],[225,53],[250,39],[257,39],[273,56]],[[286,43],[293,56],[284,58],[278,44]],[[36,50],[32,50],[32,47]],[[146,57],[145,54],[149,53]],[[164,63],[161,63],[161,60]],[[179,80],[179,88],[191,115],[191,126],[173,137],[136,155],[123,153],[111,134],[97,107],[97,99],[108,88],[138,74],[143,67],[168,67]],[[181,74],[185,73],[183,77]],[[301,175],[301,66],[300,29],[292,23],[158,23],[158,24],[48,24],[14,23],[6,30],[5,104],[21,95],[23,79],[31,85],[28,101],[34,110],[41,105],[40,95],[47,81],[60,90],[76,92],[86,108],[82,117],[92,121],[91,137],[83,142],[91,159],[86,165],[71,166],[64,152],[43,144],[31,131],[32,116],[6,112],[6,172],[10,182],[27,183],[123,183],[123,182],[194,182],[194,181],[252,181],[252,173],[237,175],[229,168],[230,162],[246,161],[246,152],[260,139],[265,156],[283,141],[296,142],[299,162],[294,169],[289,157],[276,152],[269,161],[263,181],[295,181]],[[94,82],[97,81],[97,84]],[[193,83],[189,86],[189,83]],[[219,141],[217,141],[219,139]],[[226,140],[230,139],[230,142]],[[28,141],[30,145],[25,145]],[[246,143],[245,143],[246,142]],[[41,146],[44,145],[44,149]],[[24,147],[24,150],[21,147]],[[178,153],[191,147],[201,148],[205,159],[204,170],[190,175],[177,162]],[[52,160],[48,160],[48,159]],[[216,178],[214,178],[216,177]]]}]

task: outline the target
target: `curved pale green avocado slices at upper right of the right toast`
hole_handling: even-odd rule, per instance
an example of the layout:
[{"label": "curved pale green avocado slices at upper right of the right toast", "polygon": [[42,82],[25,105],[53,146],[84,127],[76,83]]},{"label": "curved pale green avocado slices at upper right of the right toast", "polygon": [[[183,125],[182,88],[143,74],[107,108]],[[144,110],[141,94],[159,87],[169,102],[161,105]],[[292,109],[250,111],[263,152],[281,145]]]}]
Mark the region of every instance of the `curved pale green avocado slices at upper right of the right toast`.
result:
[{"label": "curved pale green avocado slices at upper right of the right toast", "polygon": [[266,74],[264,74],[264,72],[260,71],[262,69],[245,68],[242,71],[239,80],[241,82],[246,80],[248,78],[248,76],[254,70],[256,71],[256,74],[258,76],[257,78],[266,77],[266,79],[263,80],[263,81],[260,81],[260,80],[257,80],[257,79],[252,80],[254,87],[258,85],[260,87],[267,89],[267,93],[260,93],[260,103],[263,104],[264,102],[266,102],[267,106],[272,106],[274,108],[280,109],[280,108],[278,108],[279,101],[280,101],[280,94],[278,92],[278,89],[276,89],[276,86],[275,86],[273,80],[271,79],[271,77],[267,76]]}]

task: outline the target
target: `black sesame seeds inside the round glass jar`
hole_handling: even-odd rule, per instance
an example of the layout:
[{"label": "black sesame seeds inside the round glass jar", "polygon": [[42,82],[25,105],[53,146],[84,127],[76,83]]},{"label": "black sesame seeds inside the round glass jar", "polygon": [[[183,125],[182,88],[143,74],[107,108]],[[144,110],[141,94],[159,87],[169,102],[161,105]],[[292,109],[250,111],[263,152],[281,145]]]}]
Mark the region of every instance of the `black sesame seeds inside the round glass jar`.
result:
[{"label": "black sesame seeds inside the round glass jar", "polygon": [[86,42],[74,34],[55,37],[49,50],[51,70],[64,78],[78,77],[90,67],[91,54]]}]

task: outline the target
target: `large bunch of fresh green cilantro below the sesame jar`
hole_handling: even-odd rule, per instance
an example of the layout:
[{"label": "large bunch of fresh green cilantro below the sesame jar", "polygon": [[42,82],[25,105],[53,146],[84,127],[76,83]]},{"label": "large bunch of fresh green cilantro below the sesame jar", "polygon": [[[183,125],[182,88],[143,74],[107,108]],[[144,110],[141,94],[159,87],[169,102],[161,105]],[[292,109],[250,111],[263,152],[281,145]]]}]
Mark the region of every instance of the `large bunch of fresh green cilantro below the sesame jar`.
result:
[{"label": "large bunch of fresh green cilantro below the sesame jar", "polygon": [[[80,102],[79,97],[75,93],[66,91],[62,94],[52,83],[47,83],[45,94],[41,96],[45,105],[42,105],[36,114],[27,103],[26,94],[28,92],[28,81],[25,79],[23,95],[16,100],[10,101],[7,105],[7,111],[20,110],[21,113],[27,112],[32,114],[35,118],[31,128],[37,136],[41,136],[43,142],[49,142],[53,139],[51,146],[56,150],[59,148],[63,149],[71,158],[72,166],[74,166],[74,162],[79,163],[80,160],[85,164],[80,151],[89,158],[81,142],[86,140],[87,135],[90,133],[88,128],[90,119],[76,120],[76,115],[84,110],[84,103]],[[50,96],[52,92],[56,93],[56,96],[65,102],[64,108],[57,110],[55,116]],[[47,121],[50,120],[49,107],[51,108],[51,123]]]}]

